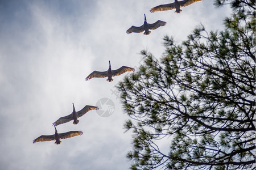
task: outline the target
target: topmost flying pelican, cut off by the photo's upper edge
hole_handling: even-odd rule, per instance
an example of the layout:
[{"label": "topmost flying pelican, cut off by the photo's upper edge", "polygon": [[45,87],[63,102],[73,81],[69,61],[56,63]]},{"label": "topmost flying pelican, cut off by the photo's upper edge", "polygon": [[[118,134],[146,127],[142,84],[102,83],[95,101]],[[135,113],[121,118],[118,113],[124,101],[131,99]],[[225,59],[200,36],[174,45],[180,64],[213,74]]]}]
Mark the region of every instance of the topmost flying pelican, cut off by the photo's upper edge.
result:
[{"label": "topmost flying pelican, cut off by the photo's upper edge", "polygon": [[180,10],[180,7],[191,5],[192,3],[195,3],[197,1],[203,1],[203,0],[184,0],[184,1],[175,0],[173,3],[159,5],[154,8],[151,8],[150,12],[167,11],[167,10],[173,10],[175,8],[176,9],[175,13],[180,13],[182,11]]}]

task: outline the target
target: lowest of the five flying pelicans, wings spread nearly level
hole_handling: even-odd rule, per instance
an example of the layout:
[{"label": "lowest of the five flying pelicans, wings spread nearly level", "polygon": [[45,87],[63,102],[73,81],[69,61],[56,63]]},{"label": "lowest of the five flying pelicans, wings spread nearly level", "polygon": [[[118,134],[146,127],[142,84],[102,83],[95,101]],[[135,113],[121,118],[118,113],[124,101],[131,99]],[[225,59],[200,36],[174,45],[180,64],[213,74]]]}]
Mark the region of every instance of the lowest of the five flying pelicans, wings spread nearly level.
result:
[{"label": "lowest of the five flying pelicans, wings spread nearly level", "polygon": [[68,131],[66,133],[57,133],[57,129],[55,128],[55,134],[53,135],[42,135],[38,138],[36,138],[33,143],[36,142],[44,142],[44,141],[54,141],[55,140],[55,144],[59,145],[61,143],[60,139],[67,139],[67,138],[72,138],[75,137],[77,135],[82,135],[82,131]]}]

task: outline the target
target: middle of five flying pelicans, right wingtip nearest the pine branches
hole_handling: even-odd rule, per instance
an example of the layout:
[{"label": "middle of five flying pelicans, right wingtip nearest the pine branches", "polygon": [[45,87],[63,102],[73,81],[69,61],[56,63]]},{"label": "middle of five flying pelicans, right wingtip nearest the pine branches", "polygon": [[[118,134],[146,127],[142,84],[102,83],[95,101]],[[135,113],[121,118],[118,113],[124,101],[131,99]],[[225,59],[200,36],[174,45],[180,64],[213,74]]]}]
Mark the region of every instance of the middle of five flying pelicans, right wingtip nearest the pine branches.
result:
[{"label": "middle of five flying pelicans, right wingtip nearest the pine branches", "polygon": [[131,67],[127,67],[127,66],[122,66],[117,70],[111,70],[111,65],[110,65],[110,61],[109,61],[109,70],[108,71],[93,71],[93,73],[91,73],[90,75],[88,75],[85,80],[89,80],[92,79],[94,77],[96,78],[104,78],[104,77],[108,77],[108,79],[106,79],[108,82],[112,82],[112,76],[117,76],[120,74],[125,73],[126,71],[135,71],[134,68]]}]

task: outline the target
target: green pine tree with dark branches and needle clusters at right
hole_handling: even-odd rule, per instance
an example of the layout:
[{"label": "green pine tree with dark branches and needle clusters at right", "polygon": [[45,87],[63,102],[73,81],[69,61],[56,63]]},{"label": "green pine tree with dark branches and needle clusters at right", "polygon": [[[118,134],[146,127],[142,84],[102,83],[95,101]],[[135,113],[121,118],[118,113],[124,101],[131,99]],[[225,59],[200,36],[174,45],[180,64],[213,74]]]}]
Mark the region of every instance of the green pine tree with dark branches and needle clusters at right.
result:
[{"label": "green pine tree with dark branches and needle clusters at right", "polygon": [[[225,30],[197,28],[118,85],[133,130],[131,169],[255,168],[255,2],[230,3]],[[167,140],[168,151],[158,147]]]}]

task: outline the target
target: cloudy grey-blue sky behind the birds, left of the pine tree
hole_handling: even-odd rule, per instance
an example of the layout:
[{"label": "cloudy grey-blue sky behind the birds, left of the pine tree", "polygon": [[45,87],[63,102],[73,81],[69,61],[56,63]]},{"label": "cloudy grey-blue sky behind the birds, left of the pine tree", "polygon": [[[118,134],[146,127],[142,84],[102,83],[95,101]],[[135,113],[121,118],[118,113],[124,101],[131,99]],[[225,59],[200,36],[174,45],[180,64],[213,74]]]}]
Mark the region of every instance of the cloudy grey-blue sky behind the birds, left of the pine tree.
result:
[{"label": "cloudy grey-blue sky behind the birds, left of the pine tree", "polygon": [[[170,0],[63,0],[0,1],[0,169],[129,169],[132,131],[123,125],[118,82],[130,73],[85,81],[92,71],[141,65],[141,50],[156,58],[164,53],[163,37],[176,44],[187,40],[194,28],[223,28],[232,12],[204,0],[175,10],[150,13],[151,7]],[[167,22],[150,35],[131,33],[131,25]],[[60,145],[32,141],[55,133],[52,123],[85,105],[101,105],[57,126],[59,133],[82,130],[83,135],[62,139]],[[105,116],[102,116],[104,113]],[[164,144],[163,144],[164,145]],[[168,148],[168,146],[163,146]]]}]

